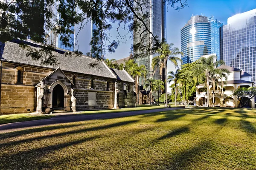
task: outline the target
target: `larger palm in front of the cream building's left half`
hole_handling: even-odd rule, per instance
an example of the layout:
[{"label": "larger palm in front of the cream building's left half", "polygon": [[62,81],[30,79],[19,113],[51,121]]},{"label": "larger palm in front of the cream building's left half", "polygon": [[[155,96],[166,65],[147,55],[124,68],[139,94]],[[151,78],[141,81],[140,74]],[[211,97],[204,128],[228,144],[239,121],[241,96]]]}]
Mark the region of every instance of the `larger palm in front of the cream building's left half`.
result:
[{"label": "larger palm in front of the cream building's left half", "polygon": [[195,65],[194,71],[198,74],[204,74],[205,84],[207,87],[207,106],[209,107],[209,93],[210,93],[210,79],[212,75],[222,75],[229,74],[229,71],[225,68],[217,68],[219,65],[225,64],[223,60],[216,61],[216,56],[212,55],[210,57],[201,57],[198,60],[199,64]]}]

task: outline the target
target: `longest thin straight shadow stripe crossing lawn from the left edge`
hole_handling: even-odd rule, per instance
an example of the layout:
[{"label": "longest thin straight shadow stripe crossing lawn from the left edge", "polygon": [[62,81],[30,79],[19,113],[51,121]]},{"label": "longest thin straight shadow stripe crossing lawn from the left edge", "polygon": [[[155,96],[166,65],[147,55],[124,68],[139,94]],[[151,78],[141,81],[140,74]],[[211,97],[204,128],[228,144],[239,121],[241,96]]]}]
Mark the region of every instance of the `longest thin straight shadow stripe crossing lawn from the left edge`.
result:
[{"label": "longest thin straight shadow stripe crossing lawn from the left edge", "polygon": [[74,134],[74,133],[83,133],[83,132],[88,132],[88,131],[93,131],[93,130],[104,130],[104,129],[107,129],[107,128],[117,127],[117,126],[122,126],[122,125],[128,125],[128,124],[135,123],[135,122],[138,122],[138,120],[118,122],[118,123],[105,125],[105,126],[83,128],[83,129],[79,129],[79,130],[72,130],[72,131],[68,131],[68,132],[56,133],[56,134],[51,134],[51,135],[46,135],[46,136],[38,136],[38,137],[34,137],[34,138],[3,143],[3,144],[0,144],[0,148],[10,146],[10,145],[14,145],[14,144],[20,144],[20,143],[24,143],[24,142],[31,142],[31,141],[35,141],[35,140],[49,139],[49,138],[52,138],[52,137],[60,137],[60,136],[70,135],[70,134]]}]

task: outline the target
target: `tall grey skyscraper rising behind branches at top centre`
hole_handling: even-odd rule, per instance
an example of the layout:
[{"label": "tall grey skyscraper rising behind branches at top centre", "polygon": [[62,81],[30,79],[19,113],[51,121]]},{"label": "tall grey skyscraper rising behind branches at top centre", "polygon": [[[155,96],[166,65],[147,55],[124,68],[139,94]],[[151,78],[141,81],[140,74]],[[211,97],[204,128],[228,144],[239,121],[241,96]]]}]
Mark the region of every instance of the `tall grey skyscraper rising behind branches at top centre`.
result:
[{"label": "tall grey skyscraper rising behind branches at top centre", "polygon": [[[147,28],[154,34],[154,36],[157,36],[159,40],[162,40],[164,38],[166,40],[166,5],[161,4],[162,0],[149,0],[148,1],[152,7],[151,8],[143,8],[143,13],[148,12],[150,14],[150,17],[144,20]],[[163,5],[163,8],[162,8]],[[163,16],[162,16],[163,11]],[[152,35],[149,34],[145,30],[145,26],[142,26],[139,31],[134,31],[134,45],[141,41],[141,36],[143,37],[143,43],[145,45],[149,45],[150,40],[152,38]],[[143,32],[144,31],[144,32]],[[137,55],[139,57],[137,57]],[[159,68],[157,70],[153,71],[152,68],[152,58],[156,56],[157,54],[153,55],[150,54],[146,48],[140,49],[140,50],[134,50],[134,57],[136,57],[134,60],[138,65],[145,65],[146,69],[148,71],[146,78],[154,78],[154,79],[161,79]],[[153,76],[154,73],[154,76]],[[164,75],[164,74],[163,74]],[[165,78],[162,76],[162,78]],[[140,85],[141,85],[142,79],[140,78]],[[144,81],[145,82],[145,81]]]}]

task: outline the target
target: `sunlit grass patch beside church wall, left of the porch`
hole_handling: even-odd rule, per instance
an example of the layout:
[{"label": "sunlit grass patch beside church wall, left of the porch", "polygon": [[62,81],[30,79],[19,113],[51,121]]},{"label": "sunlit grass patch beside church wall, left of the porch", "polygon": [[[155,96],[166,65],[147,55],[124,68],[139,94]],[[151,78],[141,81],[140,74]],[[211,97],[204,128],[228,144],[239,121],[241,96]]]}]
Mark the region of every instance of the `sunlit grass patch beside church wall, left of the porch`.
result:
[{"label": "sunlit grass patch beside church wall, left of the porch", "polygon": [[0,116],[0,125],[6,123],[23,122],[38,119],[49,119],[53,115],[31,115],[30,113],[9,114]]}]

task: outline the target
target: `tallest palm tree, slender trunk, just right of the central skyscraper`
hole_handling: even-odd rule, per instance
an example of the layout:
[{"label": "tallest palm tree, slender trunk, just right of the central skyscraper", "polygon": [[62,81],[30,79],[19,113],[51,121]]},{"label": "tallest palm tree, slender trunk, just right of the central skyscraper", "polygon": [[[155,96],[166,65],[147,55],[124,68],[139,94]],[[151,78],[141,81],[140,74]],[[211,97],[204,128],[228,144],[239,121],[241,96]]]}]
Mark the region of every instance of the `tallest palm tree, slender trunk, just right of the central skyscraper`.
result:
[{"label": "tallest palm tree, slender trunk, just right of the central skyscraper", "polygon": [[[159,56],[156,56],[152,59],[152,68],[154,68],[154,72],[156,71],[157,66],[160,68],[160,75],[162,75],[163,69],[165,69],[165,91],[166,91],[166,99],[167,99],[167,62],[172,62],[175,67],[178,66],[178,62],[182,62],[177,55],[181,54],[182,52],[179,51],[179,48],[173,47],[173,43],[167,44],[166,42],[161,45],[161,48],[157,49],[157,53]],[[168,106],[168,101],[166,100],[166,107]]]}]

